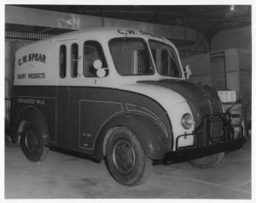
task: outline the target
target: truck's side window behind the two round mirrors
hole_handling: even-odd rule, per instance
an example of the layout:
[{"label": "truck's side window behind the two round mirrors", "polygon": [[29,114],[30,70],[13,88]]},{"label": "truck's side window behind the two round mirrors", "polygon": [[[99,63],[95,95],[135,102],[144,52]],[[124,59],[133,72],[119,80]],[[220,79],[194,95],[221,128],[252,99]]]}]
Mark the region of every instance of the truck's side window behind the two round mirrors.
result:
[{"label": "truck's side window behind the two round mirrors", "polygon": [[[93,62],[96,59],[102,61],[102,67],[108,68],[107,61],[105,59],[102,45],[96,41],[84,42],[84,61],[83,61],[83,73],[86,77],[96,77],[96,70],[93,67]],[[107,74],[108,76],[108,70]]]}]

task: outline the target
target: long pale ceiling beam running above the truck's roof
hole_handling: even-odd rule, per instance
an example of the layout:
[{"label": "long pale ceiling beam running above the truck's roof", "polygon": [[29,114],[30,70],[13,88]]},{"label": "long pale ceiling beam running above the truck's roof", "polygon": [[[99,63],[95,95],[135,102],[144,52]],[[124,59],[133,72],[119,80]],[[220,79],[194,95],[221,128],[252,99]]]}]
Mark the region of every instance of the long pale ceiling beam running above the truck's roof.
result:
[{"label": "long pale ceiling beam running above the truck's roof", "polygon": [[[44,16],[44,17],[42,17]],[[15,6],[5,7],[5,21],[8,24],[44,26],[69,30],[82,30],[91,27],[101,27],[102,17],[69,14],[36,8],[24,8]],[[184,29],[181,26],[160,25],[133,20],[119,20],[104,18],[105,26],[128,27],[148,31],[155,35],[177,40],[184,39]],[[195,42],[196,32],[194,29],[187,29],[187,40]]]}]

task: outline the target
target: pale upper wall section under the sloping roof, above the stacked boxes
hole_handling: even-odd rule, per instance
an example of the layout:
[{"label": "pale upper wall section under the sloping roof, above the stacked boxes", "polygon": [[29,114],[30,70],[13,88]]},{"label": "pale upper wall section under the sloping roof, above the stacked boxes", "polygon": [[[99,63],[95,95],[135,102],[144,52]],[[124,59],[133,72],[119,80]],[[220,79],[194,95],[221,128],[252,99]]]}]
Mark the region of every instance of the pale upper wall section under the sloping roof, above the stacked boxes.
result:
[{"label": "pale upper wall section under the sloping roof, above the stacked boxes", "polygon": [[251,26],[238,27],[224,31],[218,31],[211,42],[211,51],[224,50],[227,48],[252,48]]}]

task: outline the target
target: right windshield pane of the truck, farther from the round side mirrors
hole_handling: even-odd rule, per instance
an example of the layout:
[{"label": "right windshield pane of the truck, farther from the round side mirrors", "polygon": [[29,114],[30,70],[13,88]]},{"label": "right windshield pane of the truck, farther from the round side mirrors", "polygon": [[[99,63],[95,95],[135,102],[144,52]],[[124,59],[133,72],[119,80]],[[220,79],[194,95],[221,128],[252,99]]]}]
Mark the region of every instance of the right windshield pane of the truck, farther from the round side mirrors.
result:
[{"label": "right windshield pane of the truck, farther from the round side mirrors", "polygon": [[149,40],[149,46],[156,70],[161,76],[182,76],[174,48],[166,43],[155,40]]}]

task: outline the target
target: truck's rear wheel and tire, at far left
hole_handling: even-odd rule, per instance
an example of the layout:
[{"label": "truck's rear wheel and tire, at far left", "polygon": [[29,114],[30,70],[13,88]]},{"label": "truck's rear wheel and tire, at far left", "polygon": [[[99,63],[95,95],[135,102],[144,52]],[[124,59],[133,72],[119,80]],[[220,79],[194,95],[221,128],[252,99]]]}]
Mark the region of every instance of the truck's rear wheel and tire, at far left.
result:
[{"label": "truck's rear wheel and tire, at far left", "polygon": [[20,138],[21,149],[30,161],[43,161],[49,148],[44,146],[44,133],[32,122],[27,122]]}]

